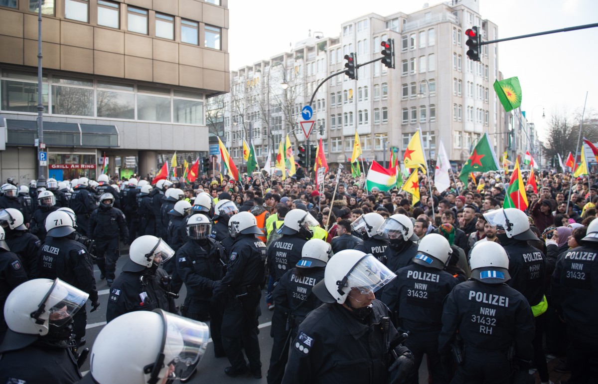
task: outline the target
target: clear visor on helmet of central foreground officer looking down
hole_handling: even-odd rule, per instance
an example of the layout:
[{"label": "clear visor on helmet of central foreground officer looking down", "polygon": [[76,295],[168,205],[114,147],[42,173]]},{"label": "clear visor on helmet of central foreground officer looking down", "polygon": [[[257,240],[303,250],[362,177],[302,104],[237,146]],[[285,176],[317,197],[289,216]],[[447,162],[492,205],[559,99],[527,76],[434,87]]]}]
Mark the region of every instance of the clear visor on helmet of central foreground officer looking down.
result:
[{"label": "clear visor on helmet of central foreground officer looking down", "polygon": [[362,294],[376,292],[396,275],[373,255],[365,255],[346,276],[346,287],[356,288]]}]

